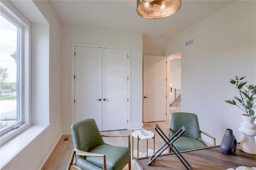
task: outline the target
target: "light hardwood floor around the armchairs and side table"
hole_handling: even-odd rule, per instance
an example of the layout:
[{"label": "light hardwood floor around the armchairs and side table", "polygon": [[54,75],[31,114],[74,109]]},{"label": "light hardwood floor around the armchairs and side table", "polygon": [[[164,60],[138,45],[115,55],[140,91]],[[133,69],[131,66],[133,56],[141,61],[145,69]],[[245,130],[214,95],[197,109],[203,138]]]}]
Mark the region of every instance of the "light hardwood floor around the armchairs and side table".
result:
[{"label": "light hardwood floor around the armchairs and side table", "polygon": [[[170,128],[170,121],[161,121],[161,122],[150,122],[144,123],[144,129],[148,129],[155,134],[155,150],[160,148],[164,144],[162,138],[157,134],[154,129],[156,124],[163,130]],[[132,130],[112,130],[112,131],[102,131],[102,134],[130,134],[130,142],[132,149]],[[127,138],[104,138],[104,141],[108,144],[113,144],[117,146],[128,146]],[[136,139],[134,138],[134,150],[137,150]],[[153,141],[152,139],[148,140],[148,149],[153,150]],[[46,160],[42,170],[66,170],[68,162],[73,150],[73,143],[71,134],[64,134],[61,136],[60,140],[56,144],[54,150],[50,154],[49,158]],[[140,152],[146,152],[146,140],[140,140],[139,146]],[[133,163],[133,162],[132,162]],[[126,169],[126,167],[124,168]]]}]

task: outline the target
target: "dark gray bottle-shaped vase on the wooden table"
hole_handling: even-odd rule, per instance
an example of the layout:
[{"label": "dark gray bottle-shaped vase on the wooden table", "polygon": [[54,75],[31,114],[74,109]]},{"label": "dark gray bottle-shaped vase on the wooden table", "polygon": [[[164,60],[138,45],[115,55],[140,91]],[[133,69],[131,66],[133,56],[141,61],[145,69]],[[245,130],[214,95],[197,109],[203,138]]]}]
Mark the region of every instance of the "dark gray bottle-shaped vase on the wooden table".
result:
[{"label": "dark gray bottle-shaped vase on the wooden table", "polygon": [[232,155],[236,150],[236,144],[237,141],[233,134],[233,130],[227,128],[220,144],[221,152],[224,154]]}]

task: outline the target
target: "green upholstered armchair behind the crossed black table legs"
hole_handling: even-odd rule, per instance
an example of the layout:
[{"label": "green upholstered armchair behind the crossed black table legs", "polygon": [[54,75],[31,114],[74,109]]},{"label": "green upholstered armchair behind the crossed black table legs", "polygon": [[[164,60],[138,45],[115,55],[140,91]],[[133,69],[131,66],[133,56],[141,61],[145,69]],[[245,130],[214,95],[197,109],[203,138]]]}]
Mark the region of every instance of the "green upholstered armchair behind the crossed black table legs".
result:
[{"label": "green upholstered armchair behind the crossed black table legs", "polygon": [[170,130],[168,130],[169,135],[174,135],[176,131],[179,130],[182,126],[186,128],[186,132],[184,132],[174,142],[174,146],[179,151],[207,147],[208,145],[201,138],[201,133],[212,138],[213,146],[216,145],[215,138],[213,136],[200,130],[196,114],[184,112],[172,113]]}]

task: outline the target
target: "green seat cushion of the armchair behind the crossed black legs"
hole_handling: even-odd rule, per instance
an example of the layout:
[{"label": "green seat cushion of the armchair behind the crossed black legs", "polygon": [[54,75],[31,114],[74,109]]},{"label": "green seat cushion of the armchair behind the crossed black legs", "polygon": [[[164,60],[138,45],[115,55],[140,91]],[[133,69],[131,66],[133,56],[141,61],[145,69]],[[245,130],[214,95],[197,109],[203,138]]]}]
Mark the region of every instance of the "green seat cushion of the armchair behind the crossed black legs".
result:
[{"label": "green seat cushion of the armchair behind the crossed black legs", "polygon": [[180,136],[175,142],[174,146],[179,150],[190,150],[197,148],[205,148],[206,146],[202,144],[198,139]]}]

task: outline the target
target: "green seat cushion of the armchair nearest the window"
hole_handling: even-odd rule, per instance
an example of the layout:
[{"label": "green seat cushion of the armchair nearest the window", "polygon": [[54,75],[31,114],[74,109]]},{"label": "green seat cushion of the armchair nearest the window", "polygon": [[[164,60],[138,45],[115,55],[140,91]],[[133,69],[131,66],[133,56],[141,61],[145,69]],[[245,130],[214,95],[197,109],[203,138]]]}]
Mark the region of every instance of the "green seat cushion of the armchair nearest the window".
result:
[{"label": "green seat cushion of the armchair nearest the window", "polygon": [[[108,144],[102,144],[96,148],[90,150],[91,153],[105,154],[107,162],[107,170],[120,170],[131,155],[130,148],[122,146],[112,146]],[[86,156],[87,161],[95,164],[101,168],[102,158],[94,156]]]}]

